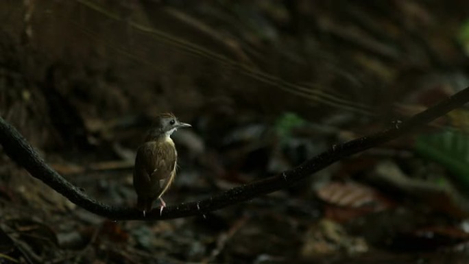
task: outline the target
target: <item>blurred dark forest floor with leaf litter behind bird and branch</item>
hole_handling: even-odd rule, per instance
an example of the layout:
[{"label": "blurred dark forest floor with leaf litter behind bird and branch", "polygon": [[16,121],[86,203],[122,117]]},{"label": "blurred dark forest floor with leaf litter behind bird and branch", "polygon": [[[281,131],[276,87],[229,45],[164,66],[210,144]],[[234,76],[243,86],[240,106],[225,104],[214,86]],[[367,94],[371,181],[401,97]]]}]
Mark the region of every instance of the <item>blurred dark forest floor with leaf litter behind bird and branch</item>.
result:
[{"label": "blurred dark forest floor with leaf litter behind bird and branch", "polygon": [[[0,2],[0,115],[62,176],[133,206],[160,112],[167,204],[275,175],[469,84],[467,1]],[[0,263],[465,263],[465,109],[295,187],[114,222],[0,155]],[[446,133],[446,134],[445,134]],[[450,133],[448,135],[448,133]]]}]

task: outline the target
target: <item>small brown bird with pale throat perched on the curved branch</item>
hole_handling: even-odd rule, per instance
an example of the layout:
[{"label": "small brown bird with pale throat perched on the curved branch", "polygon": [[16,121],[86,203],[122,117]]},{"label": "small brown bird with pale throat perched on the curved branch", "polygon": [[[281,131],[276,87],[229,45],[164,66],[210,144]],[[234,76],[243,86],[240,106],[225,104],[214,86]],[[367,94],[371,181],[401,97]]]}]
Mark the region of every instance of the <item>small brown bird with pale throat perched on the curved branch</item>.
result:
[{"label": "small brown bird with pale throat perched on the curved branch", "polygon": [[160,214],[166,206],[161,198],[176,175],[178,152],[171,134],[178,128],[189,128],[173,114],[162,114],[156,125],[149,130],[145,143],[137,150],[134,167],[134,189],[137,193],[137,208],[145,213],[152,210],[156,199],[161,202]]}]

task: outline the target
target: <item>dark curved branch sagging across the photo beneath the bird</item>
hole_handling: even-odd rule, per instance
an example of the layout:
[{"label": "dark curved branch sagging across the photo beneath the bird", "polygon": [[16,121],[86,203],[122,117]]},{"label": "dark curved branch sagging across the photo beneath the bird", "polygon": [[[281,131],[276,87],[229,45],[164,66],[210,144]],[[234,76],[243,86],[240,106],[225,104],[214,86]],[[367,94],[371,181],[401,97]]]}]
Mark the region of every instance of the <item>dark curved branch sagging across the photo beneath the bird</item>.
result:
[{"label": "dark curved branch sagging across the photo beneath the bird", "polygon": [[392,139],[398,138],[402,134],[410,132],[421,125],[429,123],[450,110],[458,108],[469,101],[469,88],[444,99],[439,104],[414,115],[413,117],[396,123],[394,127],[383,130],[370,136],[363,136],[343,144],[333,145],[328,151],[319,154],[310,160],[306,160],[302,165],[284,171],[277,176],[258,180],[250,184],[235,187],[223,193],[213,195],[206,200],[197,202],[182,203],[175,206],[168,206],[160,215],[158,210],[149,212],[143,217],[141,211],[135,208],[125,208],[119,206],[109,206],[91,199],[85,193],[74,187],[73,184],[65,180],[59,173],[51,169],[45,161],[21,134],[7,121],[0,117],[0,144],[3,151],[10,156],[18,165],[24,167],[34,178],[42,180],[58,193],[67,197],[71,202],[82,208],[107,217],[113,220],[160,220],[178,217],[188,217],[202,215],[210,211],[215,211],[232,204],[252,200],[254,197],[272,193],[280,189],[285,189],[296,182],[310,176],[312,173],[324,169],[328,165],[341,160],[346,156],[351,156],[365,149],[370,149]]}]

